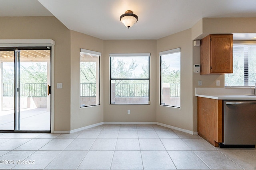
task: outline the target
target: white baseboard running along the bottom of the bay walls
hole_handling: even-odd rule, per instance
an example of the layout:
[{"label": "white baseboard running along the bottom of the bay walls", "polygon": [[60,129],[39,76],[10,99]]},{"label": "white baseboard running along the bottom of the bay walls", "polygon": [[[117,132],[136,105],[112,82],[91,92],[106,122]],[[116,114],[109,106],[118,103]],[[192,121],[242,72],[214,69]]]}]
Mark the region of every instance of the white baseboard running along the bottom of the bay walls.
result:
[{"label": "white baseboard running along the bottom of the bay walls", "polygon": [[197,132],[189,131],[189,130],[186,130],[186,129],[181,129],[179,127],[174,127],[174,126],[171,126],[171,125],[166,125],[164,123],[158,123],[158,122],[126,122],[126,121],[125,122],[124,121],[120,121],[120,122],[119,121],[104,121],[104,122],[96,123],[96,124],[93,124],[93,125],[81,127],[81,128],[78,128],[78,129],[74,129],[74,130],[71,130],[71,131],[54,131],[53,133],[74,133],[74,132],[82,131],[82,130],[89,129],[89,128],[96,127],[96,126],[100,126],[100,125],[160,125],[160,126],[168,127],[170,129],[174,129],[174,130],[182,131],[182,132],[185,132],[185,133],[189,133],[191,135],[198,135]]}]

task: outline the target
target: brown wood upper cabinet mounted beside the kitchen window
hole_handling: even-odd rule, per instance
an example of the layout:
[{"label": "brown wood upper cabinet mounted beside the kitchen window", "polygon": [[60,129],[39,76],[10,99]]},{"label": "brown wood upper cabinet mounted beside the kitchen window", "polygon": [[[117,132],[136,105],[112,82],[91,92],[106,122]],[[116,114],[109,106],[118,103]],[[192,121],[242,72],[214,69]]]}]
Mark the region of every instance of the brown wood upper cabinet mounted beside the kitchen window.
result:
[{"label": "brown wood upper cabinet mounted beside the kitchen window", "polygon": [[233,73],[233,35],[208,35],[201,40],[201,74]]}]

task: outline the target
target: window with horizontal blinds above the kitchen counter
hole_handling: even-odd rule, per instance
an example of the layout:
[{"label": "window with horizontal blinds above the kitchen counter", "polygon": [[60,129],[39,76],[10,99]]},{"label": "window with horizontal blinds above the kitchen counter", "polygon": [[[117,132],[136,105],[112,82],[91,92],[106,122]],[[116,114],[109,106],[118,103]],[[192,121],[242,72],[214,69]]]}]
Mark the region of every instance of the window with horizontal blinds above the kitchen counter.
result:
[{"label": "window with horizontal blinds above the kitchen counter", "polygon": [[225,74],[225,86],[255,86],[256,45],[233,44],[233,73]]}]

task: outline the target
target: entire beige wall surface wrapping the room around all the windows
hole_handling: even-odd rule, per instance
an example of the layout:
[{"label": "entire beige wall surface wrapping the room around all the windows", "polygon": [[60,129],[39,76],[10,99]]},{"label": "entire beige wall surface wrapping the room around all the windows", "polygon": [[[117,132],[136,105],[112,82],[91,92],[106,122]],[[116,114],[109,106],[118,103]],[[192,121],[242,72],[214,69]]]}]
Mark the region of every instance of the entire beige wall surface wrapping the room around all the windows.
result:
[{"label": "entire beige wall surface wrapping the room around all the windows", "polygon": [[[195,88],[224,87],[224,75],[193,73],[200,63],[200,47],[193,40],[216,33],[255,33],[256,18],[202,18],[191,29],[158,40],[101,40],[71,31],[55,17],[0,17],[0,39],[53,39],[54,131],[69,131],[102,121],[159,122],[197,131]],[[159,52],[181,48],[181,108],[160,106]],[[100,106],[79,107],[80,48],[98,51],[101,57]],[[151,53],[150,105],[110,105],[109,53]],[[56,83],[63,83],[56,89]],[[127,114],[130,109],[131,114]]]}]

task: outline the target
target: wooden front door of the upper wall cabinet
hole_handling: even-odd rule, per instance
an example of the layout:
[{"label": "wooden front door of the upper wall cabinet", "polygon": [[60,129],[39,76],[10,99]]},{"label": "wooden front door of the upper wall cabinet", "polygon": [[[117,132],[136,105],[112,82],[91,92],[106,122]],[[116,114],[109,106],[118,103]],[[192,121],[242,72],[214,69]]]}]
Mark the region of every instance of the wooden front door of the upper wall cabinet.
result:
[{"label": "wooden front door of the upper wall cabinet", "polygon": [[211,73],[233,73],[233,35],[211,35]]}]

